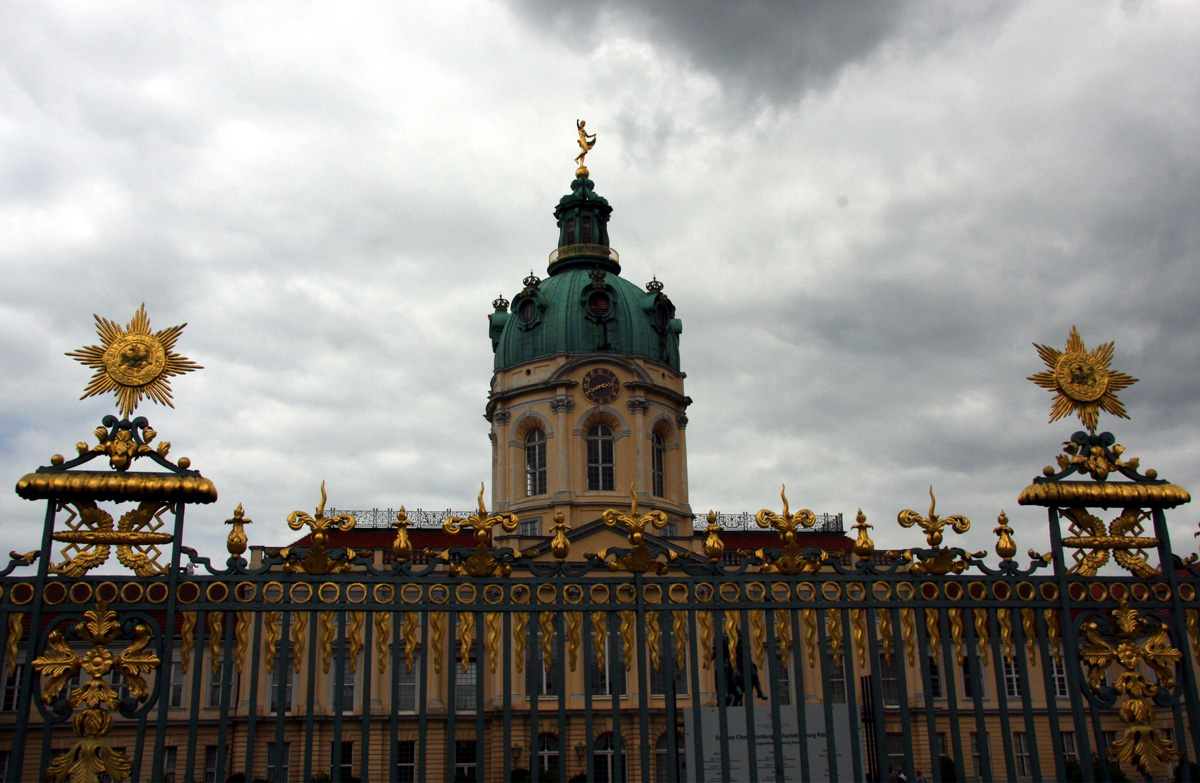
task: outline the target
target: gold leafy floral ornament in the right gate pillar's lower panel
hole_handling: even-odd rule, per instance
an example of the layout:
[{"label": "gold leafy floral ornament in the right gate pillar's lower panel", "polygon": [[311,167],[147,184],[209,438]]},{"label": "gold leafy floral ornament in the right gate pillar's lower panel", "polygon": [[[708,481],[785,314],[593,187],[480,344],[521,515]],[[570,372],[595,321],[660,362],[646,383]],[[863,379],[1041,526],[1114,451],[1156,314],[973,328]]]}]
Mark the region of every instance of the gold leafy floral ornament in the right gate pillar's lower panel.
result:
[{"label": "gold leafy floral ornament in the right gate pillar's lower panel", "polygon": [[[1120,740],[1109,746],[1109,758],[1133,764],[1148,778],[1163,764],[1182,758],[1175,743],[1160,729],[1153,728],[1153,699],[1160,689],[1175,687],[1175,665],[1183,653],[1171,645],[1162,623],[1153,628],[1138,610],[1130,609],[1128,600],[1112,610],[1112,620],[1108,624],[1108,633],[1115,636],[1116,644],[1100,635],[1100,626],[1096,621],[1085,622],[1081,628],[1085,644],[1080,658],[1087,669],[1087,687],[1099,693],[1114,663],[1124,669],[1112,681],[1112,689],[1126,698],[1121,705],[1126,730]],[[1153,673],[1153,682],[1146,677],[1142,667]]]}]

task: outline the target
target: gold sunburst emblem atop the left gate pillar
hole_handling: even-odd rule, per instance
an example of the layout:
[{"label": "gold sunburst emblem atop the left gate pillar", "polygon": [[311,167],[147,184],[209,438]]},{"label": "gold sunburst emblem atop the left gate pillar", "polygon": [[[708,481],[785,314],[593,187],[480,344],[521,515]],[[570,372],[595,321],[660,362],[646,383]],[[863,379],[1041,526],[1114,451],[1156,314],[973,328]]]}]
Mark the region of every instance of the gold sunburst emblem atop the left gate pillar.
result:
[{"label": "gold sunburst emblem atop the left gate pillar", "polygon": [[133,413],[143,396],[175,407],[170,401],[170,377],[204,369],[174,352],[186,323],[151,333],[144,304],[124,329],[113,321],[94,317],[96,334],[104,345],[67,353],[96,371],[80,400],[113,392],[125,418]]}]

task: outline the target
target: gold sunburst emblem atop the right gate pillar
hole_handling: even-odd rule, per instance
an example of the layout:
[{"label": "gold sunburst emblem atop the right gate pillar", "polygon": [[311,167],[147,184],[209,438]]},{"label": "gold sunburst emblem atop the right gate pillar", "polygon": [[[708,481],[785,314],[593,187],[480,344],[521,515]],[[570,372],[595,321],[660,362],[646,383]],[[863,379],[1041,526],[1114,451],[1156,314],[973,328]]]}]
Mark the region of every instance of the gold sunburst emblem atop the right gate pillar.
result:
[{"label": "gold sunburst emblem atop the right gate pillar", "polygon": [[1050,369],[1031,375],[1030,381],[1043,389],[1057,393],[1050,408],[1051,422],[1078,413],[1084,426],[1094,431],[1100,411],[1123,419],[1129,418],[1116,393],[1133,385],[1138,378],[1109,369],[1112,361],[1111,342],[1088,352],[1079,331],[1072,327],[1064,351],[1039,346],[1036,342],[1033,347]]}]

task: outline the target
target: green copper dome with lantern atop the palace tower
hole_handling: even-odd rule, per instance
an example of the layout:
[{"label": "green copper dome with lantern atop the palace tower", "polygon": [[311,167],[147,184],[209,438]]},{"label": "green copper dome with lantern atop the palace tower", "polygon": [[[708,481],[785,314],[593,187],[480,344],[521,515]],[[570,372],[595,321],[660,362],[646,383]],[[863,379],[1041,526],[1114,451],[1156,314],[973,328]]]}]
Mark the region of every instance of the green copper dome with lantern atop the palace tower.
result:
[{"label": "green copper dome with lantern atop the palace tower", "polygon": [[496,369],[556,354],[638,355],[679,370],[674,305],[654,281],[643,291],[620,276],[608,246],[612,208],[589,179],[571,183],[554,209],[559,246],[550,256],[550,277],[530,275],[509,303],[497,299],[488,316]]}]

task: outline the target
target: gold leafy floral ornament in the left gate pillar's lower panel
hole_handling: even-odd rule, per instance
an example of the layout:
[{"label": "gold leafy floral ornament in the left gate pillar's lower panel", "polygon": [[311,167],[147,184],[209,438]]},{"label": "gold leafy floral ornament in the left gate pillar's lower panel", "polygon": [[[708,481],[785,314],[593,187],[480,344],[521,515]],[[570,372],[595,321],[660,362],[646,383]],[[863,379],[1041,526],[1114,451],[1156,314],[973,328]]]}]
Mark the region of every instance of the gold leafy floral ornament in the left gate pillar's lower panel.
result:
[{"label": "gold leafy floral ornament in the left gate pillar's lower panel", "polygon": [[119,656],[113,656],[108,645],[120,633],[116,612],[108,610],[107,603],[97,603],[95,609],[84,612],[85,621],[74,627],[74,633],[92,645],[91,650],[78,656],[61,630],[52,630],[47,638],[47,648],[38,656],[32,667],[42,675],[42,701],[53,705],[59,693],[82,670],[88,675],[77,688],[66,697],[71,709],[83,707],[72,719],[71,728],[80,737],[70,749],[58,755],[46,770],[46,779],[54,783],[71,779],[72,783],[97,783],[102,775],[114,781],[130,777],[130,759],[114,749],[102,737],[113,729],[112,713],[121,706],[121,699],[110,682],[110,674],[125,681],[130,693],[137,701],[145,701],[150,695],[143,675],[157,669],[162,663],[150,642],[150,629],[138,623],[133,630],[133,640]]}]

